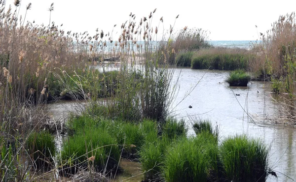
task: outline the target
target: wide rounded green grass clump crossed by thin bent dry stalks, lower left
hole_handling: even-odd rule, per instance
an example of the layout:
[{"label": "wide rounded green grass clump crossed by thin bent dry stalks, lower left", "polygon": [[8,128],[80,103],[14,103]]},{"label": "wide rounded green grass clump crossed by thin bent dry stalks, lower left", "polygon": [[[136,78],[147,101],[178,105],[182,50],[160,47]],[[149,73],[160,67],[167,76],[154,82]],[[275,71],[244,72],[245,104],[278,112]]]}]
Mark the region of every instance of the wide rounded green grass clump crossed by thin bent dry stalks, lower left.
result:
[{"label": "wide rounded green grass clump crossed by thin bent dry stalks, lower left", "polygon": [[117,166],[119,157],[116,139],[104,128],[86,128],[83,132],[74,134],[63,142],[61,151],[61,163],[69,167],[70,173],[87,167],[88,161],[92,159],[97,172],[111,171]]}]

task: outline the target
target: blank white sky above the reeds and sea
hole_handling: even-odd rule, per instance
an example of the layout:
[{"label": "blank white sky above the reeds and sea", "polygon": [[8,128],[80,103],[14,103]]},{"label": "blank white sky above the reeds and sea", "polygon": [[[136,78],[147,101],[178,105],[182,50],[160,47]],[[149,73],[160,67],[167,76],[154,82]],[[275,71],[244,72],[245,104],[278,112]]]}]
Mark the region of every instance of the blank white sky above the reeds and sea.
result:
[{"label": "blank white sky above the reeds and sea", "polygon": [[[13,2],[6,0],[6,7]],[[65,31],[95,35],[97,28],[107,33],[117,25],[113,35],[119,36],[120,26],[129,20],[131,12],[140,22],[157,8],[152,26],[158,26],[163,17],[159,29],[169,30],[170,25],[174,25],[173,32],[185,26],[200,28],[207,31],[208,40],[259,40],[259,33],[270,30],[280,15],[296,11],[296,0],[21,0],[19,14],[23,18],[30,2],[25,21],[47,26],[48,8],[54,3],[51,22],[63,24],[60,28]]]}]

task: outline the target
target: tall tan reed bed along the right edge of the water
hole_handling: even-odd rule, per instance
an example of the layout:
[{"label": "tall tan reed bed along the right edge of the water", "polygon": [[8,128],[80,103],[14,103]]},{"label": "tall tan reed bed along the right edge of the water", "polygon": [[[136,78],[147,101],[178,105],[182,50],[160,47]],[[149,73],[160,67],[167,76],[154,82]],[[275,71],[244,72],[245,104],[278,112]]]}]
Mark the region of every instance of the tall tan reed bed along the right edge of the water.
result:
[{"label": "tall tan reed bed along the right edge of the water", "polygon": [[[260,32],[261,42],[253,50],[259,55],[259,61],[252,62],[254,70],[260,70],[265,77],[282,83],[281,90],[295,95],[296,77],[295,49],[296,23],[295,12],[282,15],[271,24],[271,29]],[[276,89],[278,90],[278,89]],[[276,91],[277,92],[277,91]]]}]

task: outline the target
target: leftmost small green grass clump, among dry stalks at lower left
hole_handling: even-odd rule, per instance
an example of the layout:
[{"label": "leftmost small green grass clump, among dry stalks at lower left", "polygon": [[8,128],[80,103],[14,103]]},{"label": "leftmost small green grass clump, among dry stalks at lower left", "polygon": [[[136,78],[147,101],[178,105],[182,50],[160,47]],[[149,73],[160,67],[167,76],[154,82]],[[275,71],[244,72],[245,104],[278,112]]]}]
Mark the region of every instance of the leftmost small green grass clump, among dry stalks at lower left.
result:
[{"label": "leftmost small green grass clump, among dry stalks at lower left", "polygon": [[27,140],[27,149],[38,168],[52,167],[56,154],[54,137],[47,131],[34,131]]}]

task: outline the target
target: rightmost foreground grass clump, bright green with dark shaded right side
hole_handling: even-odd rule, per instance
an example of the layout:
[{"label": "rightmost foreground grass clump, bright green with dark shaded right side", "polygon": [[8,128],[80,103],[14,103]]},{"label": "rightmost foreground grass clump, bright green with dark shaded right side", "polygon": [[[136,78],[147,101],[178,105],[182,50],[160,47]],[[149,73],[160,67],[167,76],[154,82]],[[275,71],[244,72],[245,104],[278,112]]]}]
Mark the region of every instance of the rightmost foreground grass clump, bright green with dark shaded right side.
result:
[{"label": "rightmost foreground grass clump, bright green with dark shaded right side", "polygon": [[222,142],[220,155],[227,181],[266,181],[268,148],[260,140],[246,135],[229,137]]}]

